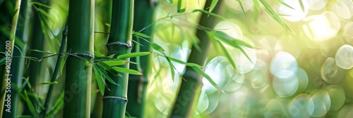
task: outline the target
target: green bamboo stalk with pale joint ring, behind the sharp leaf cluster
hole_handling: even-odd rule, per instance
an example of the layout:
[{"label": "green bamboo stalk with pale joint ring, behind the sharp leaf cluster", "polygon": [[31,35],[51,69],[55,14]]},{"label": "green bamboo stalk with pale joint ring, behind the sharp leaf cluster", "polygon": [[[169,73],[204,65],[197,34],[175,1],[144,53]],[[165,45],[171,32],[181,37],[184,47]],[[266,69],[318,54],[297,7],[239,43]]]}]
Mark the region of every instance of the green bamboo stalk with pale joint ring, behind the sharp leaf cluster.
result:
[{"label": "green bamboo stalk with pale joint ring, behind the sharp leaf cluster", "polygon": [[[131,52],[131,33],[133,23],[133,0],[114,0],[112,2],[112,24],[107,43],[108,55],[118,55]],[[129,60],[126,58],[125,60]],[[128,68],[129,65],[120,67]],[[107,82],[107,88],[103,96],[102,117],[125,117],[128,90],[128,74],[121,73],[121,77],[109,74],[116,82],[115,85]]]}]

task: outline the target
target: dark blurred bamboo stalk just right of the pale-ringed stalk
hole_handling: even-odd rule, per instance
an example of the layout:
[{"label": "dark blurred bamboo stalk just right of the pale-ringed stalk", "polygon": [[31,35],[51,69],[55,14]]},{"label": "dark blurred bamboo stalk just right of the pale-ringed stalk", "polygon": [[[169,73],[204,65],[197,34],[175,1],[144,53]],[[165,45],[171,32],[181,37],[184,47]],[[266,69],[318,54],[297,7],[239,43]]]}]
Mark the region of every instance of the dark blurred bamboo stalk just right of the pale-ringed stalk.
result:
[{"label": "dark blurred bamboo stalk just right of the pale-ringed stalk", "polygon": [[[133,18],[138,20],[134,20],[133,30],[138,32],[143,29],[141,33],[152,36],[153,27],[148,26],[153,22],[154,11],[155,3],[150,3],[150,0],[136,0]],[[138,37],[134,37],[134,39],[138,41],[139,44],[135,43],[133,45],[135,46],[132,49],[133,52],[152,51],[150,43],[148,42],[152,42],[152,38],[145,38],[148,41],[139,39]],[[142,46],[140,46],[140,44]],[[145,111],[145,94],[148,85],[148,75],[151,72],[151,58],[152,55],[131,58],[131,62],[137,62],[138,65],[131,64],[130,68],[143,73],[143,75],[131,74],[128,77],[128,104],[126,112],[132,117],[143,117]]]}]

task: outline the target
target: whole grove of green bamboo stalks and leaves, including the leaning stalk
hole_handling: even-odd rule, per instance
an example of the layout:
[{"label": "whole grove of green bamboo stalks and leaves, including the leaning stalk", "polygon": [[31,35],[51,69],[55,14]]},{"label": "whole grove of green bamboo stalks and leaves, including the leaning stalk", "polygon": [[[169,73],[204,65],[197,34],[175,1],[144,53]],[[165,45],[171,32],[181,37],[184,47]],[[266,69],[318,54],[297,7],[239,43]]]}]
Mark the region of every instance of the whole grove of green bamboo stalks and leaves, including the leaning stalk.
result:
[{"label": "whole grove of green bamboo stalks and leaves, including the leaning stalk", "polygon": [[[0,82],[0,117],[146,117],[153,98],[150,81],[160,72],[166,73],[164,79],[179,81],[164,117],[195,117],[203,79],[225,93],[204,71],[210,47],[225,55],[234,73],[239,72],[237,62],[225,45],[246,58],[244,47],[256,48],[215,29],[217,22],[228,20],[221,15],[224,1],[196,2],[198,8],[188,9],[185,0],[0,0],[0,75],[8,80]],[[267,13],[292,31],[268,1],[253,4],[254,11]],[[157,19],[163,7],[172,10]],[[197,20],[172,22],[189,14]],[[172,22],[179,32],[186,25],[193,37],[158,34],[161,21]],[[157,43],[155,36],[180,37],[192,44],[186,61],[170,56],[169,44]],[[156,58],[165,63],[156,64]],[[178,72],[175,63],[184,65],[185,72]]]}]

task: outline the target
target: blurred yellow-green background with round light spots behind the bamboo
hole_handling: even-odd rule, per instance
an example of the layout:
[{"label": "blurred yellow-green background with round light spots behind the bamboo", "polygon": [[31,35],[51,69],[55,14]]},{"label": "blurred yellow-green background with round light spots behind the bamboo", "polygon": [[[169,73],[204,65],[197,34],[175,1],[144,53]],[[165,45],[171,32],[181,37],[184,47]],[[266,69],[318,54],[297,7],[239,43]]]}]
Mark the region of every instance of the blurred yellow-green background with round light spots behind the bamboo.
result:
[{"label": "blurred yellow-green background with round light spots behind the bamboo", "polygon": [[[280,0],[282,1],[282,0]],[[109,32],[110,1],[95,1],[95,51],[106,53]],[[352,117],[353,116],[353,2],[352,0],[269,0],[286,29],[274,20],[265,6],[253,0],[224,0],[215,27],[235,39],[253,44],[249,55],[225,45],[237,65],[214,45],[204,71],[225,91],[215,89],[203,79],[201,96],[193,117]],[[173,58],[186,62],[196,38],[196,27],[205,0],[184,1],[184,13],[177,13],[177,1],[160,0],[155,8],[154,41]],[[240,5],[241,4],[241,5]],[[48,27],[51,41],[45,49],[57,53],[61,31],[68,16],[68,1],[51,1]],[[290,6],[290,7],[289,7]],[[143,19],[135,19],[143,20]],[[291,31],[292,30],[292,31]],[[138,32],[138,31],[135,31]],[[53,58],[54,59],[54,58]],[[54,60],[41,76],[49,79]],[[145,117],[167,117],[185,65],[174,63],[175,76],[166,58],[153,55],[152,72],[148,75]],[[65,73],[63,73],[65,74]],[[62,76],[64,77],[64,76]],[[54,88],[53,104],[63,89],[63,79]],[[43,88],[43,90],[45,87]],[[46,93],[40,96],[44,96]],[[96,98],[97,97],[97,98]],[[92,117],[102,116],[100,93],[92,77]],[[22,105],[22,104],[20,104]],[[59,112],[56,117],[61,117]]]}]

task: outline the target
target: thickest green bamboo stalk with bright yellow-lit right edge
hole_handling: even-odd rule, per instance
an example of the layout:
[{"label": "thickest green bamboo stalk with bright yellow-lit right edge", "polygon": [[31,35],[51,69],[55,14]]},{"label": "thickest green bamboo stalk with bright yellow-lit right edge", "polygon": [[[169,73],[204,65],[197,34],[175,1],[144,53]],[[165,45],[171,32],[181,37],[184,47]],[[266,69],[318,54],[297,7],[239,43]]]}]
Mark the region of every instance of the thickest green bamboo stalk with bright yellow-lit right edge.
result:
[{"label": "thickest green bamboo stalk with bright yellow-lit right edge", "polygon": [[69,2],[63,117],[90,117],[94,3]]}]

